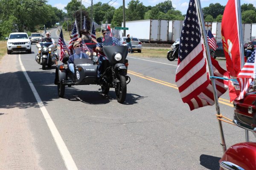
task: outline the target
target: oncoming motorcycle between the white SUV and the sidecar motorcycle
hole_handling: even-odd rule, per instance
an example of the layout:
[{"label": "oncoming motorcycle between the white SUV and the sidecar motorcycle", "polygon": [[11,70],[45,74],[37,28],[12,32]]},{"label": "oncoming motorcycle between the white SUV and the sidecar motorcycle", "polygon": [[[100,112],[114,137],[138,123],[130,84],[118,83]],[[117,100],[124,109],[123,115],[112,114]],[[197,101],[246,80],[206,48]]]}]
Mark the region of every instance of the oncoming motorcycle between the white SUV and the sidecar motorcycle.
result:
[{"label": "oncoming motorcycle between the white SUV and the sidecar motorcycle", "polygon": [[35,61],[42,65],[43,70],[46,69],[46,66],[50,68],[55,64],[55,58],[58,58],[55,44],[52,44],[52,42],[39,42],[35,46],[38,48],[38,54],[35,55]]}]

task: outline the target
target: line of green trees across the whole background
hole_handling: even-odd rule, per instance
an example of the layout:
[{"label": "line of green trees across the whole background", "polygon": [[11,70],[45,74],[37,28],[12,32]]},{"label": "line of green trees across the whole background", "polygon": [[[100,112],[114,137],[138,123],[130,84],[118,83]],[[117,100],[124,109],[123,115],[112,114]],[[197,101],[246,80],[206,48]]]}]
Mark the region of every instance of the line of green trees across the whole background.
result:
[{"label": "line of green trees across the whole background", "polygon": [[[225,6],[211,3],[209,7],[202,8],[206,22],[221,22]],[[47,0],[0,0],[0,39],[8,37],[9,33],[34,32],[38,29],[51,27],[60,23],[67,30],[72,29],[74,20],[78,21],[80,28],[80,14],[86,18],[86,26],[90,29],[91,7],[81,6],[81,2],[71,0],[64,8],[67,13],[47,4]],[[241,5],[242,22],[256,23],[256,8],[253,4]],[[131,0],[125,8],[125,20],[184,20],[185,15],[175,10],[171,0],[158,3],[155,6],[144,6],[139,0]],[[123,7],[114,8],[111,4],[98,2],[93,4],[94,22],[111,23],[111,27],[122,26]],[[70,31],[69,30],[69,31]]]}]

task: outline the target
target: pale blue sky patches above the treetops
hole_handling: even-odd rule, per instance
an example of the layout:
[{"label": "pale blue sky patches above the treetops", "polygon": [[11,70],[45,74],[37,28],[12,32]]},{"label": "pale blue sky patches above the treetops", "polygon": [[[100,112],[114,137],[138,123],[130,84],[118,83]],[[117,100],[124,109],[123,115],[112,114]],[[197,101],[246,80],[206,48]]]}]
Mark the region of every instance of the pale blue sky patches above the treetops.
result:
[{"label": "pale blue sky patches above the treetops", "polygon": [[[110,1],[110,2],[109,2]],[[131,0],[125,0],[125,6],[130,2]],[[158,3],[164,2],[166,0],[140,0],[140,2],[143,3],[145,6],[155,6]],[[67,3],[69,3],[70,0],[48,0],[48,3],[52,6],[57,7],[58,9],[64,9],[65,6],[67,6]],[[123,0],[93,0],[94,3],[108,3],[109,5],[118,8],[119,6],[122,6]],[[220,3],[221,5],[226,5],[227,0],[201,0],[201,6],[206,7],[209,6],[210,3]],[[252,3],[253,6],[256,7],[256,0],[241,0],[241,4],[244,3]],[[82,4],[84,6],[90,6],[91,0],[82,0]],[[172,5],[175,7],[175,9],[182,12],[182,14],[186,13],[186,10],[189,6],[189,0],[172,0]]]}]

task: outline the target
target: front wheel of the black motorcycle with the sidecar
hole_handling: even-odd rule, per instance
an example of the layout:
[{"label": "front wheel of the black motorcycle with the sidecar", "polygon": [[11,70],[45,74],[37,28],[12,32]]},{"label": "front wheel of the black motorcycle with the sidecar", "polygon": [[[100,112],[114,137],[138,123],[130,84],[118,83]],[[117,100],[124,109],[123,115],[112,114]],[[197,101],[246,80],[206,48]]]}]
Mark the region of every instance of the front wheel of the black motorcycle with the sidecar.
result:
[{"label": "front wheel of the black motorcycle with the sidecar", "polygon": [[125,76],[122,74],[116,74],[116,78],[120,81],[119,83],[117,83],[117,87],[115,88],[116,99],[117,102],[123,103],[125,101],[127,91],[126,79]]}]

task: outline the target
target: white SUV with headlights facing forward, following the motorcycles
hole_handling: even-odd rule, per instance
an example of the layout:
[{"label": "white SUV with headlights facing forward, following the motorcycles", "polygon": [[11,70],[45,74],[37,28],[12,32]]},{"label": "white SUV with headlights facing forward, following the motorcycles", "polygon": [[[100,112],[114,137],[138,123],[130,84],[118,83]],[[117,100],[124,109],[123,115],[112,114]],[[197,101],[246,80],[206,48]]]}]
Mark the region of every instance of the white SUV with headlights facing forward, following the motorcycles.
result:
[{"label": "white SUV with headlights facing forward, following the motorcycles", "polygon": [[31,54],[31,42],[25,32],[11,33],[7,40],[7,54],[12,51],[27,51]]}]

